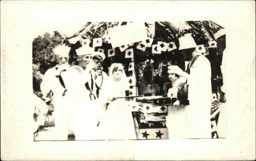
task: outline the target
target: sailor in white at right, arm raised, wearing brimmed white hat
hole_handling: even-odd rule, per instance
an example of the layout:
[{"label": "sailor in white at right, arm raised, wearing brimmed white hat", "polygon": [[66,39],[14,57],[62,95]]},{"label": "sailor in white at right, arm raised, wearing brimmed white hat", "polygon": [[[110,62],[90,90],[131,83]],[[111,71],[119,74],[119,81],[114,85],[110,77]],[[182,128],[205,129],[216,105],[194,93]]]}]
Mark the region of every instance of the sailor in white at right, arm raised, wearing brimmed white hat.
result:
[{"label": "sailor in white at right, arm raised, wearing brimmed white hat", "polygon": [[191,34],[185,34],[179,38],[180,48],[184,58],[190,58],[188,73],[178,66],[173,73],[187,79],[188,121],[190,126],[190,138],[211,138],[211,65],[202,54],[197,53],[197,47]]}]

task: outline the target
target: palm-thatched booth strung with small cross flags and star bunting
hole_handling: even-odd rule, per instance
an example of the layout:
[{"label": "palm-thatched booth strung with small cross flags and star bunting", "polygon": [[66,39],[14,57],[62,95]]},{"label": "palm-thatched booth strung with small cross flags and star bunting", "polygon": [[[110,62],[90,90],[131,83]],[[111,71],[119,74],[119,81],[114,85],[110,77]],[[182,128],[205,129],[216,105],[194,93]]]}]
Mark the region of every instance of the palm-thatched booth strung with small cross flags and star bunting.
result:
[{"label": "palm-thatched booth strung with small cross flags and star bunting", "polygon": [[[218,138],[216,125],[221,109],[219,87],[222,85],[220,65],[223,47],[214,35],[223,29],[212,21],[88,22],[79,32],[57,43],[71,47],[69,61],[73,65],[77,58],[75,50],[82,45],[106,55],[103,61],[106,73],[111,64],[123,64],[130,86],[126,98],[133,100],[127,104],[134,119],[137,139],[168,139],[172,134],[167,129],[166,117],[172,116],[180,124],[185,124],[187,110],[186,105],[173,106],[177,99],[175,92],[167,96],[168,89],[172,88],[168,65],[174,64],[186,71],[189,61],[178,50],[178,38],[190,34],[197,44],[196,50],[211,63],[212,109],[209,112],[212,138]],[[221,41],[225,43],[224,38]]]}]

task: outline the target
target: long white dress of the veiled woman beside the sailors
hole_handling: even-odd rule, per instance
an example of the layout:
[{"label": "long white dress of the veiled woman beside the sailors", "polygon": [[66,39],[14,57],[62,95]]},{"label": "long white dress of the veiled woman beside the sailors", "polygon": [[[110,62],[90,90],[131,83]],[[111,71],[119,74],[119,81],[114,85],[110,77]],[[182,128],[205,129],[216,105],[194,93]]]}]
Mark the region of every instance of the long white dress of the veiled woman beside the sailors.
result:
[{"label": "long white dress of the veiled woman beside the sailors", "polygon": [[[127,88],[129,86],[125,86],[122,81],[110,81],[108,96],[109,98],[123,97]],[[102,131],[100,140],[137,139],[132,111],[124,98],[110,102],[105,118],[100,122],[99,128]]]}]

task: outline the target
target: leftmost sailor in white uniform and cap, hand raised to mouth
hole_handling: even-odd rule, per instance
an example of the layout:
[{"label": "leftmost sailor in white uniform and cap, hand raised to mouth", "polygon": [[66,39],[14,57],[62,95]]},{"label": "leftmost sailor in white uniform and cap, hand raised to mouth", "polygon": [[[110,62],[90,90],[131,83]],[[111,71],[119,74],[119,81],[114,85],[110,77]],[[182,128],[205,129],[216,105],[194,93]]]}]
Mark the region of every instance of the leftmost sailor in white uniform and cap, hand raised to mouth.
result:
[{"label": "leftmost sailor in white uniform and cap, hand raised to mouth", "polygon": [[43,94],[42,98],[45,99],[47,104],[50,102],[47,94],[51,90],[53,92],[52,104],[54,106],[55,128],[51,131],[52,140],[67,140],[70,108],[66,97],[65,82],[63,82],[60,74],[65,73],[70,67],[68,65],[70,48],[62,45],[56,47],[53,51],[58,56],[58,65],[45,72],[40,88]]}]

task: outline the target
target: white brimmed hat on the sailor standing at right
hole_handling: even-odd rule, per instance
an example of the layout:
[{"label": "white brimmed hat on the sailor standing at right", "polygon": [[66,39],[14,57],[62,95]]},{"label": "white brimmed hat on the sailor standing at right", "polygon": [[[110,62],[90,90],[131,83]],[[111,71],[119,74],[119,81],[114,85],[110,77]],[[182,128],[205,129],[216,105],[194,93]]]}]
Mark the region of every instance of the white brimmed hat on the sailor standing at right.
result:
[{"label": "white brimmed hat on the sailor standing at right", "polygon": [[183,49],[190,49],[190,48],[196,48],[196,42],[193,39],[191,33],[190,34],[184,34],[184,36],[179,38],[180,47],[179,50]]}]

